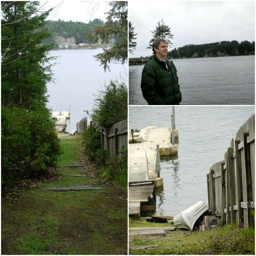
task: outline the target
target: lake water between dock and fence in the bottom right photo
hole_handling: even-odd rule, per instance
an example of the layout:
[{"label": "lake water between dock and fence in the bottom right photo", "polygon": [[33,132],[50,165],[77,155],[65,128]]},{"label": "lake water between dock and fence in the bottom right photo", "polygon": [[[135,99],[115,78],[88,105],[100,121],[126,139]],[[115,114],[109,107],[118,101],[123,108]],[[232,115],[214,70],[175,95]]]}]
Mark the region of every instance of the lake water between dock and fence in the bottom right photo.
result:
[{"label": "lake water between dock and fence in the bottom right photo", "polygon": [[[160,162],[157,214],[175,216],[200,200],[208,204],[206,175],[224,160],[231,139],[254,111],[254,106],[175,106],[178,159]],[[130,106],[129,129],[171,127],[171,113],[171,106]]]}]

